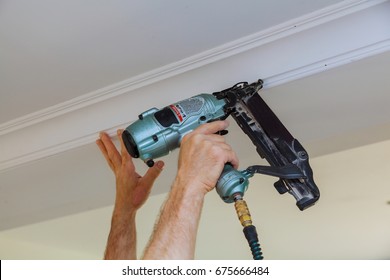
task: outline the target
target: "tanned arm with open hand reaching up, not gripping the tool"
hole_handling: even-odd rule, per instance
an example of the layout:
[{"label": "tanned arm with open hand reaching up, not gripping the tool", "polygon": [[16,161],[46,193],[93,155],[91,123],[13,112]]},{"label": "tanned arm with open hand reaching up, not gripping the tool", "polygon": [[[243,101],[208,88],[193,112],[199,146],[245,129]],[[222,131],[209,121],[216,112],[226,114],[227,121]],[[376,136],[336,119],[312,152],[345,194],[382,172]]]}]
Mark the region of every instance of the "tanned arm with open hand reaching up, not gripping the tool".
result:
[{"label": "tanned arm with open hand reaching up, not gripping the tool", "polygon": [[106,133],[101,133],[96,141],[116,179],[115,205],[104,258],[134,260],[137,259],[136,213],[149,197],[164,163],[156,162],[143,177],[140,176],[123,144],[122,132],[117,132],[121,143],[120,153]]}]

